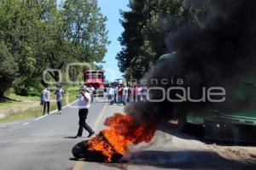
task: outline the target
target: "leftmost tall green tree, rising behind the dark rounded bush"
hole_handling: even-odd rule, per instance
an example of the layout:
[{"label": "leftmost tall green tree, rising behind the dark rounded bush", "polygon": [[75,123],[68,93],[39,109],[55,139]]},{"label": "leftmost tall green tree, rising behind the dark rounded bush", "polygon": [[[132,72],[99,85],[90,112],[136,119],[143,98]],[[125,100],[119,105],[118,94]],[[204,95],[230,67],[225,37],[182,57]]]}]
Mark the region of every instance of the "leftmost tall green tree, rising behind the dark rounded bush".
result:
[{"label": "leftmost tall green tree, rising behind the dark rounded bush", "polygon": [[0,39],[5,42],[15,59],[18,68],[15,72],[15,92],[28,94],[34,84],[36,71],[35,42],[36,22],[38,20],[36,1],[6,0],[0,6]]}]

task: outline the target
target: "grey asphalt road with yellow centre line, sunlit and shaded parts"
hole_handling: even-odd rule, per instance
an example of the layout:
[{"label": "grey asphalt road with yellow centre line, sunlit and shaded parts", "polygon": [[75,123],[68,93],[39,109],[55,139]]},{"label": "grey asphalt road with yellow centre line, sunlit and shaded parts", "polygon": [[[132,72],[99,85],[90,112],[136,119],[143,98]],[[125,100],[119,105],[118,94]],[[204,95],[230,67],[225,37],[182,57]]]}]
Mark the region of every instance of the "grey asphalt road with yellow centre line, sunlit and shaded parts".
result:
[{"label": "grey asphalt road with yellow centre line, sunlit and shaded parts", "polygon": [[[177,133],[162,122],[150,144],[131,146],[123,163],[75,161],[73,145],[85,140],[73,139],[78,130],[77,104],[64,108],[62,115],[0,124],[0,169],[3,170],[82,170],[82,169],[255,169],[253,163],[233,159],[214,144],[205,144],[192,136]],[[123,106],[96,100],[87,119],[96,132],[106,117],[123,111]],[[222,147],[221,147],[222,148]],[[253,155],[252,155],[253,157]],[[252,158],[253,159],[253,158]]]}]

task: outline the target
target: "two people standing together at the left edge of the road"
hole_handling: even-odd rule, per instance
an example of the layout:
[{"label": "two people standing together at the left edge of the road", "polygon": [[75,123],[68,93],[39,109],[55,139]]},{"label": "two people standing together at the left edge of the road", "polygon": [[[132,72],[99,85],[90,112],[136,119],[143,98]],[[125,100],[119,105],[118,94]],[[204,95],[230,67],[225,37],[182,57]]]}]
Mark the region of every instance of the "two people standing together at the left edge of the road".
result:
[{"label": "two people standing together at the left edge of the road", "polygon": [[[58,114],[61,115],[61,110],[62,110],[62,99],[64,96],[65,92],[64,90],[61,88],[61,85],[57,85],[57,89],[55,90],[55,96],[56,96],[56,103],[57,103],[57,107],[58,107]],[[46,110],[47,110],[47,114],[49,115],[49,103],[50,103],[50,91],[49,88],[46,87],[44,88],[44,90],[42,91],[41,94],[41,105],[44,106],[44,111],[43,111],[43,115],[46,114]]]}]

